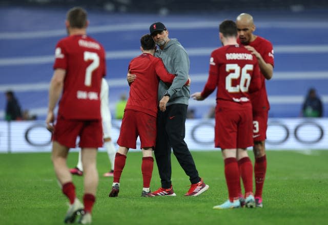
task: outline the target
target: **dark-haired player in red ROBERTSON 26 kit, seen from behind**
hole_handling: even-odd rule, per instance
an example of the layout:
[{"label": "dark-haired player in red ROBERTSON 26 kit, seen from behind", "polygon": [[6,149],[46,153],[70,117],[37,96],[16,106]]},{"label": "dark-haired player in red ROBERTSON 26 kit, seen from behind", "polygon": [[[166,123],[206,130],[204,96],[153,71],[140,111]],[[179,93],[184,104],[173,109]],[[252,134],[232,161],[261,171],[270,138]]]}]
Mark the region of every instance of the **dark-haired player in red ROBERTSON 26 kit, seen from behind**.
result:
[{"label": "dark-haired player in red ROBERTSON 26 kit, seen from behind", "polygon": [[[253,145],[250,92],[260,88],[259,66],[251,52],[237,44],[235,22],[223,21],[219,27],[219,37],[223,47],[211,53],[208,81],[202,92],[192,95],[193,99],[201,101],[217,87],[215,147],[222,149],[229,199],[213,209],[241,206],[240,175],[245,189],[246,206],[253,208],[253,166],[247,147]],[[237,161],[241,162],[240,169]]]}]

